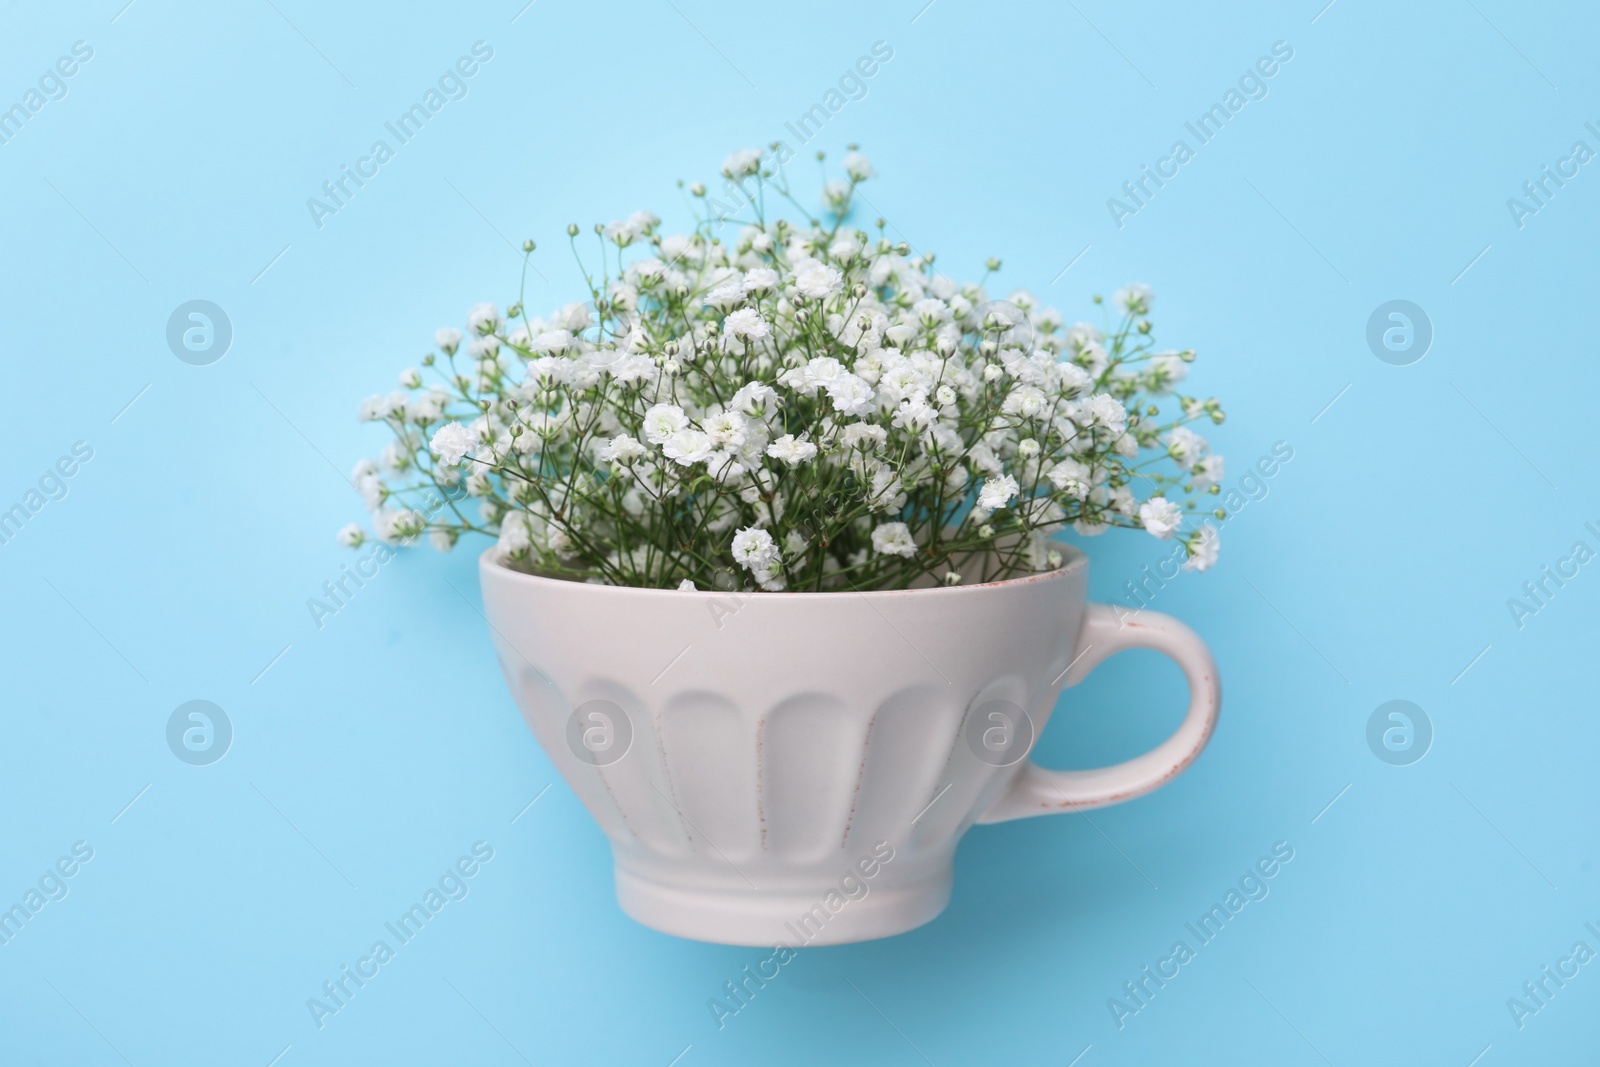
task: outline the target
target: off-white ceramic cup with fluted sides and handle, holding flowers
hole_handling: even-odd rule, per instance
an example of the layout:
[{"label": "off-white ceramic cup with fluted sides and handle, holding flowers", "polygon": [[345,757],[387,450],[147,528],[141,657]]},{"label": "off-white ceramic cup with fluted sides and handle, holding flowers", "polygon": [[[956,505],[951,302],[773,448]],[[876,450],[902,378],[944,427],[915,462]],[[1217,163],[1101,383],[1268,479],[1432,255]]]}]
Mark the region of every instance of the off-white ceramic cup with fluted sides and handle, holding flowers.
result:
[{"label": "off-white ceramic cup with fluted sides and handle, holding flowers", "polygon": [[[622,910],[739,945],[886,937],[934,918],[974,822],[1120,803],[1187,768],[1221,689],[1181,622],[1085,600],[1088,563],[893,592],[590,585],[478,561],[539,744],[611,841]],[[1125,648],[1173,657],[1189,713],[1141,757],[1027,760],[1061,689]]]}]

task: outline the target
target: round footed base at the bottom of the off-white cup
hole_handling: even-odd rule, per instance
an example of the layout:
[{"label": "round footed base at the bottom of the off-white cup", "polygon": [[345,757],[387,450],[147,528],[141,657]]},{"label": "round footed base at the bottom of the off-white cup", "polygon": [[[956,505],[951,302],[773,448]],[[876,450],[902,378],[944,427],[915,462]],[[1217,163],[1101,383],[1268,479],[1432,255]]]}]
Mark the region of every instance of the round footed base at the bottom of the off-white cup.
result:
[{"label": "round footed base at the bottom of the off-white cup", "polygon": [[[811,891],[662,885],[616,867],[616,901],[629,918],[674,937],[720,945],[805,949],[893,937],[938,918],[950,902],[949,869],[910,885],[872,886],[851,901],[835,886]],[[829,909],[834,904],[834,909]]]}]

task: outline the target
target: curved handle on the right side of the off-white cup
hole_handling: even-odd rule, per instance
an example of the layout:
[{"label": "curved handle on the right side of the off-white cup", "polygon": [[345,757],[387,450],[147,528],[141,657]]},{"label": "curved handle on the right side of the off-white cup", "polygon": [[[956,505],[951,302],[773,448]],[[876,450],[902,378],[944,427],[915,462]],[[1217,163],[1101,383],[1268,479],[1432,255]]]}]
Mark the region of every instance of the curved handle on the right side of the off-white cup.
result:
[{"label": "curved handle on the right side of the off-white cup", "polygon": [[1222,686],[1205,641],[1178,619],[1155,611],[1118,613],[1088,605],[1072,665],[1062,688],[1082,681],[1107,656],[1125,648],[1154,648],[1170,656],[1189,680],[1189,713],[1171,737],[1144,755],[1093,771],[1051,771],[1027,760],[1011,784],[978,817],[1005,822],[1059,811],[1104,808],[1142,797],[1178,777],[1211,739]]}]

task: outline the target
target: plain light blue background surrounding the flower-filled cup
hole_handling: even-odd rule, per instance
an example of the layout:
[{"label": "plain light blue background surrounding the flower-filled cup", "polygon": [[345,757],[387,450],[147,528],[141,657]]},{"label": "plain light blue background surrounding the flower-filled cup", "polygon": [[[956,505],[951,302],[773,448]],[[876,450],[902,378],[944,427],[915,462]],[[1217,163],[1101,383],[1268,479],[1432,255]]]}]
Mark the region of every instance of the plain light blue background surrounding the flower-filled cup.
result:
[{"label": "plain light blue background surrounding the flower-filled cup", "polygon": [[[1592,1056],[1600,963],[1520,1030],[1506,1001],[1573,942],[1600,949],[1600,563],[1523,629],[1506,600],[1574,541],[1600,547],[1600,165],[1523,229],[1506,200],[1574,141],[1600,147],[1594,11],[122,3],[0,16],[0,106],[94,48],[0,146],[0,506],[94,450],[0,547],[0,904],[94,848],[0,945],[0,1062]],[[470,94],[318,229],[306,198],[477,40],[494,58]],[[344,472],[382,445],[357,400],[515,294],[510,242],[541,243],[530,304],[573,299],[568,221],[682,224],[674,179],[786,136],[878,40],[893,61],[806,150],[859,141],[891,234],[955,277],[1003,256],[998,294],[1026,285],[1072,320],[1149,282],[1158,336],[1200,350],[1192,384],[1229,408],[1229,483],[1274,442],[1294,459],[1229,520],[1216,571],[1155,605],[1224,678],[1184,777],[974,830],[944,917],[805,952],[718,1030],[707,998],[765,953],[616,909],[600,832],[502,686],[475,553],[408,552],[322,629],[306,600],[350,558]],[[1278,40],[1294,58],[1267,99],[1118,229],[1107,197]],[[211,366],[165,342],[197,298],[235,331]],[[1435,330],[1411,366],[1365,342],[1397,298]],[[1160,555],[1088,547],[1099,598]],[[197,697],[235,729],[205,768],[163,734]],[[1389,699],[1434,723],[1419,763],[1366,747]],[[1176,669],[1123,656],[1038,755],[1125,758],[1179,704]],[[318,1030],[306,1000],[478,840],[494,859],[470,896]],[[1270,896],[1118,1030],[1107,998],[1275,841],[1294,861]]]}]

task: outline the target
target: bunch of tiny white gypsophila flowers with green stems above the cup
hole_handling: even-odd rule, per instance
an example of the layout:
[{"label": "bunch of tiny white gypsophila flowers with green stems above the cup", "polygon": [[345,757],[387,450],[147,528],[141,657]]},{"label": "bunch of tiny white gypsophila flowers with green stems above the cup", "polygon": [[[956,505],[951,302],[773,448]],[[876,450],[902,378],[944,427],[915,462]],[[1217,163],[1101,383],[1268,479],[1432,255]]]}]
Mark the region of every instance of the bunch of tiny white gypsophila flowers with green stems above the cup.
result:
[{"label": "bunch of tiny white gypsophila flowers with green stems above the cup", "polygon": [[[395,435],[352,475],[376,536],[482,533],[517,569],[656,589],[997,581],[1061,566],[1069,525],[1179,537],[1211,566],[1187,498],[1218,491],[1222,458],[1187,424],[1222,410],[1179,394],[1163,414],[1194,352],[1155,347],[1150,290],[1118,290],[1099,328],[1024,290],[992,301],[883,219],[848,229],[872,168],[851,147],[843,170],[811,218],[781,163],[734,152],[736,208],[694,184],[690,234],[646,211],[595,226],[597,274],[570,226],[587,301],[478,304],[362,403]],[[805,224],[768,218],[776,200]]]}]

